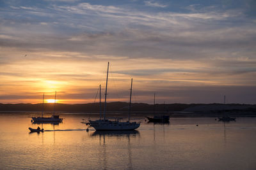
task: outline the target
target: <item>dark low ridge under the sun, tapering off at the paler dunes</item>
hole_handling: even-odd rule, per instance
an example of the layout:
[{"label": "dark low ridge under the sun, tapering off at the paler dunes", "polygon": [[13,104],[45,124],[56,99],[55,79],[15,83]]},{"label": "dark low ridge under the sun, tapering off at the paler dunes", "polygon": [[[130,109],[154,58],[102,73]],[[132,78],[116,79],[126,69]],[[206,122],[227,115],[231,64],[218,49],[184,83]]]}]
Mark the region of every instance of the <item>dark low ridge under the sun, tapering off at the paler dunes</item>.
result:
[{"label": "dark low ridge under the sun, tapering off at the paler dunes", "polygon": [[[153,104],[146,103],[132,103],[132,111],[153,111]],[[192,104],[193,105],[193,104]],[[156,111],[181,111],[191,104],[156,104]],[[102,111],[104,109],[104,103],[102,103]],[[53,111],[53,103],[45,103],[44,111]],[[129,103],[125,102],[113,102],[107,104],[107,111],[128,111]],[[19,103],[19,104],[3,104],[0,103],[0,111],[42,111],[42,103]],[[87,104],[61,104],[56,103],[55,111],[68,111],[68,112],[99,112],[99,103],[87,103]]]}]

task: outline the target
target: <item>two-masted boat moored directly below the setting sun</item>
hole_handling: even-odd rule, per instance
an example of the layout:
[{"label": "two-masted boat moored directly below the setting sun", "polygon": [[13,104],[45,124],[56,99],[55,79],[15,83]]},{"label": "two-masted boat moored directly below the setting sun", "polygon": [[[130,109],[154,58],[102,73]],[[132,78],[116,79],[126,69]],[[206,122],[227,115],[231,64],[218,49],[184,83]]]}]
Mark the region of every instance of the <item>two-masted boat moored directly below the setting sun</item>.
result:
[{"label": "two-masted boat moored directly below the setting sun", "polygon": [[34,122],[62,122],[63,118],[60,118],[59,115],[55,115],[55,104],[56,104],[56,91],[55,91],[55,99],[54,99],[54,111],[51,117],[44,117],[44,95],[43,95],[43,109],[42,109],[42,117],[32,117]]}]

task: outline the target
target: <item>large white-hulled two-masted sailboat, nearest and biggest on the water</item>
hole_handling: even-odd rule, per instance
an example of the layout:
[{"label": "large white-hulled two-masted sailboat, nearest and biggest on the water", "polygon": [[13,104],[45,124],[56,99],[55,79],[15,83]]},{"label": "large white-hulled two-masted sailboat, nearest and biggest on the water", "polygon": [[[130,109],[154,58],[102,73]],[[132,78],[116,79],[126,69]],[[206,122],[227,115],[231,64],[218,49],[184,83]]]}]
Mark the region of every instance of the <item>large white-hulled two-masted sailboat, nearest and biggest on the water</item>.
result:
[{"label": "large white-hulled two-masted sailboat, nearest and biggest on the water", "polygon": [[[109,62],[108,62],[108,70],[109,70]],[[130,122],[132,80],[131,80],[129,115],[128,115],[127,122],[120,122],[119,119],[116,119],[114,121],[106,119],[107,90],[108,90],[108,72],[107,72],[107,79],[106,79],[106,92],[105,92],[103,119],[100,116],[99,120],[89,120],[88,125],[93,127],[96,131],[125,131],[125,130],[127,131],[127,130],[134,130],[134,129],[137,129],[138,127],[140,127],[140,123]]]}]

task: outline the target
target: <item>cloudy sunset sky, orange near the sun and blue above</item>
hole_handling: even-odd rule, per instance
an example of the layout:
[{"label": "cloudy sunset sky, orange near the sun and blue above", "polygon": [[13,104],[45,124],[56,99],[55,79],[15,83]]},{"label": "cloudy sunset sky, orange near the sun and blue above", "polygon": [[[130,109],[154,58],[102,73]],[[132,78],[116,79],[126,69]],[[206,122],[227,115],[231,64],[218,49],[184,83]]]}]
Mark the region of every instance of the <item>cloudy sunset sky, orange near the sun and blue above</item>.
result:
[{"label": "cloudy sunset sky, orange near the sun and blue above", "polygon": [[0,0],[0,103],[256,104],[256,1]]}]

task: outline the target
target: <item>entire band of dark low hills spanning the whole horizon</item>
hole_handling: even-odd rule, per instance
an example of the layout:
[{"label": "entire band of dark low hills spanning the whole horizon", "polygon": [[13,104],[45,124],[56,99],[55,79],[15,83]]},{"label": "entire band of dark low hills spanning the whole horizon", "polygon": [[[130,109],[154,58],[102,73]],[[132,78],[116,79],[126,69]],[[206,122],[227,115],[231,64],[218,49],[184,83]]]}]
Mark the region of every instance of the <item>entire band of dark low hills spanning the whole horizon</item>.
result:
[{"label": "entire band of dark low hills spanning the whole horizon", "polygon": [[[104,104],[102,103],[102,111]],[[45,103],[44,111],[52,112],[54,110],[54,104]],[[129,110],[129,103],[125,102],[113,102],[107,104],[107,111],[113,112],[125,112]],[[132,112],[136,113],[152,113],[154,110],[153,104],[147,103],[132,103]],[[256,116],[256,104],[156,104],[156,113],[169,113],[170,115],[244,115],[244,116]],[[42,111],[42,103],[30,104],[2,104],[0,103],[0,111]],[[70,113],[75,112],[99,112],[99,103],[87,103],[87,104],[61,104],[56,103],[55,111],[65,111]]]}]

